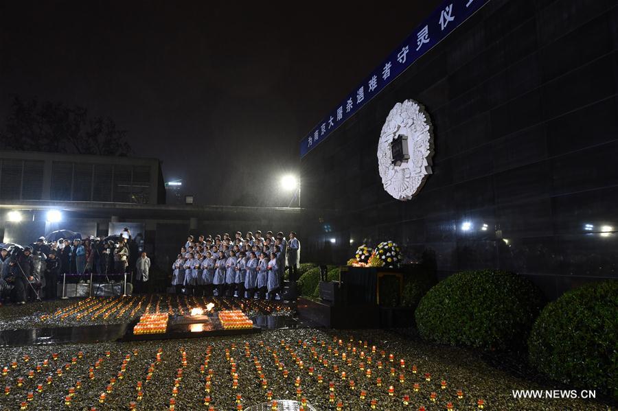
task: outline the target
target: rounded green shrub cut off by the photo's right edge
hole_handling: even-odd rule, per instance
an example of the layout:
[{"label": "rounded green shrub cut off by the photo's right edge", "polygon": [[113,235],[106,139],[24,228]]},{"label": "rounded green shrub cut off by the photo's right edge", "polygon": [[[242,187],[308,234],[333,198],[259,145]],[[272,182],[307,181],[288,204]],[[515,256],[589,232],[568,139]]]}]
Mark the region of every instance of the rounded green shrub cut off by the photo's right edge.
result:
[{"label": "rounded green shrub cut off by the photo's right edge", "polygon": [[542,373],[618,399],[618,281],[584,285],[549,303],[528,347]]}]

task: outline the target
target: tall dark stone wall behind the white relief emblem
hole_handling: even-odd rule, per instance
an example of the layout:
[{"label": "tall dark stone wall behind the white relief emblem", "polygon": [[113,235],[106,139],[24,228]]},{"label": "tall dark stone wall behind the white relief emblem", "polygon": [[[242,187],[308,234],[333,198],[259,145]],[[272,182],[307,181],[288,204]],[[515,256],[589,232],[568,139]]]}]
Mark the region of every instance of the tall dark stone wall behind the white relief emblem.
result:
[{"label": "tall dark stone wall behind the white relief emblem", "polygon": [[[549,298],[616,278],[616,3],[492,0],[413,64],[301,160],[304,261],[343,263],[394,239],[409,261],[435,253],[442,277],[511,270]],[[400,202],[376,150],[404,99],[428,111],[435,155],[420,193]]]}]

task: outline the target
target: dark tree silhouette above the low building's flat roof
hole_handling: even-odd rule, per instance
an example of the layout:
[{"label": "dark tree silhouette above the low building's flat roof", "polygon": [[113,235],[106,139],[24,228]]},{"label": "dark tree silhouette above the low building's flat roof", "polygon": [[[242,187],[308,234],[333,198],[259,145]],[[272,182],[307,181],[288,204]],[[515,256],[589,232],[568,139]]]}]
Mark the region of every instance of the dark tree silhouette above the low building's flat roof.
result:
[{"label": "dark tree silhouette above the low building's flat roof", "polygon": [[5,148],[105,156],[133,154],[126,130],[80,106],[14,97],[0,138]]}]

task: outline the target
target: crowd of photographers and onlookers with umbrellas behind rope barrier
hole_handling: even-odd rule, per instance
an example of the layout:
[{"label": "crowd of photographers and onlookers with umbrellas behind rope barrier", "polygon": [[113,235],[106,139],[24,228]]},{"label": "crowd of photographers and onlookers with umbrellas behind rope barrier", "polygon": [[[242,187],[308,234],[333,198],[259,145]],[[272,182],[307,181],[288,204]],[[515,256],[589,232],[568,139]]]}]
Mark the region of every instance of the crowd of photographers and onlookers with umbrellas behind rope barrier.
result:
[{"label": "crowd of photographers and onlookers with umbrellas behind rope barrier", "polygon": [[135,266],[137,280],[148,280],[150,259],[146,253],[131,259],[139,253],[135,248],[128,228],[107,241],[89,237],[48,243],[39,237],[23,249],[1,248],[0,302],[23,305],[36,298],[55,299],[62,274],[80,274],[80,282],[87,282],[85,274],[119,274]]}]

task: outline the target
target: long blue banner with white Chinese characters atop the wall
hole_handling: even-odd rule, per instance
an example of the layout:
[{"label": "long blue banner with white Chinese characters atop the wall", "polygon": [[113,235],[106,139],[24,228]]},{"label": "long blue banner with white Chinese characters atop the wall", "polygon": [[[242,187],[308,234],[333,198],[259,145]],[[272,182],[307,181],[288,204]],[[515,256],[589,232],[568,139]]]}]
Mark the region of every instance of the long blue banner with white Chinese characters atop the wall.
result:
[{"label": "long blue banner with white Chinese characters atop the wall", "polygon": [[301,141],[301,158],[489,0],[447,0]]}]

